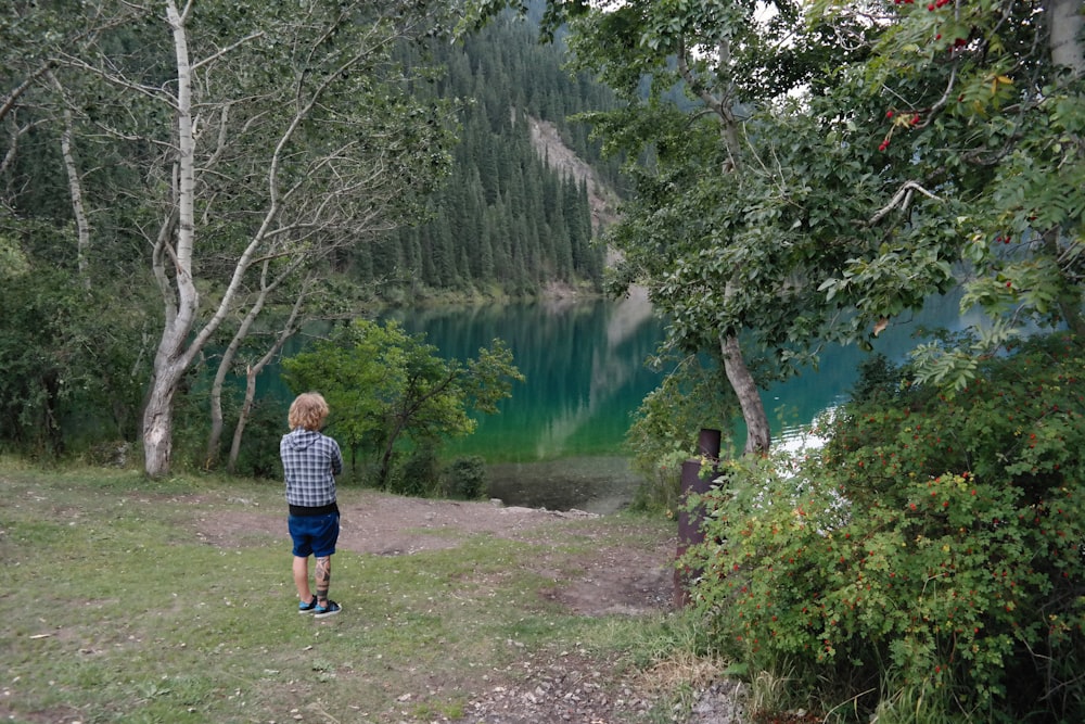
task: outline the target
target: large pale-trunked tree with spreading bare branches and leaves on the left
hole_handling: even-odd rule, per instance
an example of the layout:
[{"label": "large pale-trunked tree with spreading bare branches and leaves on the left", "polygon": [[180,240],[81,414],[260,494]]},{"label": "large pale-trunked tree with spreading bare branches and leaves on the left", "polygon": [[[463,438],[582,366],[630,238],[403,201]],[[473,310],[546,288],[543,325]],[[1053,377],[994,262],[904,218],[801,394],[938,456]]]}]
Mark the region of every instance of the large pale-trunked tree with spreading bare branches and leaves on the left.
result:
[{"label": "large pale-trunked tree with spreading bare branches and leaves on the left", "polygon": [[[18,27],[48,26],[37,21],[51,4],[21,7]],[[142,431],[149,474],[169,470],[175,395],[208,343],[233,340],[228,369],[255,320],[295,301],[298,280],[326,278],[344,247],[401,223],[443,173],[443,104],[416,102],[392,58],[396,43],[439,27],[443,10],[99,0],[62,25],[69,34],[29,38],[42,41],[40,62],[24,64],[29,85],[3,113],[22,118],[47,91],[52,106],[38,113],[63,109],[80,255],[92,227],[79,201],[106,194],[88,189],[79,144],[105,138],[123,166],[139,168],[115,193],[135,207],[125,233],[150,250],[162,300]]]}]

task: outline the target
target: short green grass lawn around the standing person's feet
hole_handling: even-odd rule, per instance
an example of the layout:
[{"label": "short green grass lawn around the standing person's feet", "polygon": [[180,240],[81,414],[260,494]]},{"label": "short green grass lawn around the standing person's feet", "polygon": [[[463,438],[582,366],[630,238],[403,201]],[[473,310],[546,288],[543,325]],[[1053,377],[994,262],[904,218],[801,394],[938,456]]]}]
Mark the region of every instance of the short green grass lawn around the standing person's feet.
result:
[{"label": "short green grass lawn around the standing person's feet", "polygon": [[[456,720],[525,649],[629,669],[669,648],[672,617],[578,617],[541,596],[553,581],[527,563],[563,545],[553,535],[341,550],[332,587],[345,610],[315,620],[296,612],[279,484],[0,460],[0,493],[9,721]],[[341,488],[341,504],[359,493]],[[234,508],[281,519],[282,535],[220,545],[206,521]]]}]

